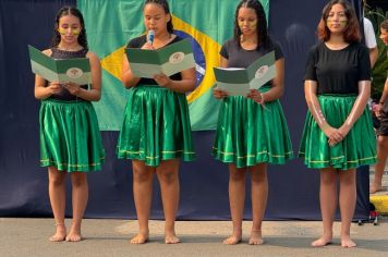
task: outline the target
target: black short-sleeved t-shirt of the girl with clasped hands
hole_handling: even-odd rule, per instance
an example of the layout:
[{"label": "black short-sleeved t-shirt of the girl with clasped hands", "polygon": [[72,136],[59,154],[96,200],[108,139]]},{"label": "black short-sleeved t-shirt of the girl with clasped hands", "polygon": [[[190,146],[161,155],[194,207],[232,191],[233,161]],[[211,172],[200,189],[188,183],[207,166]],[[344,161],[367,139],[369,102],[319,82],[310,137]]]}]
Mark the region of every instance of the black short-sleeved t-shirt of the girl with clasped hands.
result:
[{"label": "black short-sleeved t-shirt of the girl with clasped hands", "polygon": [[331,50],[322,41],[310,50],[304,79],[317,82],[317,95],[357,95],[359,82],[371,81],[368,50],[359,42]]}]

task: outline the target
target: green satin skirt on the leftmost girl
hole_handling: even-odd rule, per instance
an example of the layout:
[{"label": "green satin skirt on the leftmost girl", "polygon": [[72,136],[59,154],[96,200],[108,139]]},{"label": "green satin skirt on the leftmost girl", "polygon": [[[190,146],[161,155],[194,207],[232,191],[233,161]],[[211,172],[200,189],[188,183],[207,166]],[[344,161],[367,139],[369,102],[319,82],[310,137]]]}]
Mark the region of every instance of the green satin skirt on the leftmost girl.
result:
[{"label": "green satin skirt on the leftmost girl", "polygon": [[97,115],[89,101],[41,101],[40,166],[61,171],[97,171],[105,151]]}]

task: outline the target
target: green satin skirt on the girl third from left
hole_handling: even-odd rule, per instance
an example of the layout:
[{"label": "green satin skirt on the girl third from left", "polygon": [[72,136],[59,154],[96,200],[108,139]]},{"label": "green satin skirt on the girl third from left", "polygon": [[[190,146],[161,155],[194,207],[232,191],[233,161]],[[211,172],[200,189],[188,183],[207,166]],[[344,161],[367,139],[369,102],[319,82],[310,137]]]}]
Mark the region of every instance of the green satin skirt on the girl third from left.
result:
[{"label": "green satin skirt on the girl third from left", "polygon": [[[269,90],[266,86],[260,91]],[[242,96],[222,100],[213,156],[238,168],[260,162],[283,164],[293,151],[287,121],[279,100],[265,108]]]}]

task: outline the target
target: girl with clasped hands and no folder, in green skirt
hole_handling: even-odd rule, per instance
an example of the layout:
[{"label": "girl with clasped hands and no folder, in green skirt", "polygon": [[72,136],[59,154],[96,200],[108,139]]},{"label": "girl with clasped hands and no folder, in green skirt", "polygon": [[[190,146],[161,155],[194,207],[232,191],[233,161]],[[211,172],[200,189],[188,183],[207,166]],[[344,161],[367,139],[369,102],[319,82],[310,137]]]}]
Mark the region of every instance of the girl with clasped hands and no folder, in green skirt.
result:
[{"label": "girl with clasped hands and no folder, in green skirt", "polygon": [[332,240],[337,208],[337,180],[341,211],[341,245],[350,238],[356,188],[355,169],[376,161],[375,137],[366,109],[371,93],[368,50],[361,45],[354,10],[345,0],[326,4],[318,25],[320,42],[308,54],[304,76],[308,113],[300,157],[319,169],[323,236],[312,243],[325,246]]}]

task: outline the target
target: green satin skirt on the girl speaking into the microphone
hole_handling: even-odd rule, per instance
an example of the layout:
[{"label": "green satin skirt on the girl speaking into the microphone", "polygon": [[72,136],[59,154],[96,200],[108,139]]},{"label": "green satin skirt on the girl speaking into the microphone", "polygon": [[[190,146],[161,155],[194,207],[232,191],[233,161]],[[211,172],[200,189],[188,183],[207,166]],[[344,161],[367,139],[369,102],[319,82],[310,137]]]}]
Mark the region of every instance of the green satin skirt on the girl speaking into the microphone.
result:
[{"label": "green satin skirt on the girl speaking into the microphone", "polygon": [[130,89],[118,140],[120,159],[136,159],[157,167],[161,160],[195,158],[187,100],[158,85]]}]

